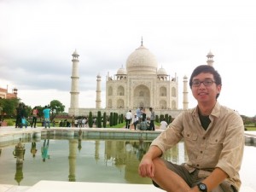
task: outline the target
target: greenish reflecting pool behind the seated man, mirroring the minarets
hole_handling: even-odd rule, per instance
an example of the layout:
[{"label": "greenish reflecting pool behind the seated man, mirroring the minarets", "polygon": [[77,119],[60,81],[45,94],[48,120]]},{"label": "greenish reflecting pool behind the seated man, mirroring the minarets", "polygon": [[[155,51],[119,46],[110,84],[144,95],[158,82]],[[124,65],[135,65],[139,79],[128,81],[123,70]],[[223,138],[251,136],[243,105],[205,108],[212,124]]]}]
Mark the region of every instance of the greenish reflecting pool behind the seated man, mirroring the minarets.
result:
[{"label": "greenish reflecting pool behind the seated man, mirroring the minarets", "polygon": [[[22,142],[24,157],[15,146],[2,148],[0,183],[32,186],[40,180],[102,183],[151,183],[139,177],[137,167],[151,141],[42,139]],[[16,152],[16,153],[15,153]],[[178,164],[187,160],[183,142],[164,154]],[[246,146],[242,182],[256,189],[256,148]],[[253,172],[252,172],[253,170]]]}]

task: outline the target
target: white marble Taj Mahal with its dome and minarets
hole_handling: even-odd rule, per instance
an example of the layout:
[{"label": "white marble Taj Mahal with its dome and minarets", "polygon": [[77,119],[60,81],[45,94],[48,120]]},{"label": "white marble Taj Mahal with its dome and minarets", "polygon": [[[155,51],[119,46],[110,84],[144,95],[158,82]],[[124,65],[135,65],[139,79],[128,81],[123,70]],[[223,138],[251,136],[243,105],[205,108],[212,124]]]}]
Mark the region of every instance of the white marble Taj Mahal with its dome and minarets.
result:
[{"label": "white marble Taj Mahal with its dome and minarets", "polygon": [[[211,51],[207,54],[207,65],[213,64]],[[183,108],[178,108],[178,77],[170,77],[166,69],[158,66],[154,54],[141,45],[126,60],[125,67],[106,77],[106,108],[102,108],[102,77],[96,76],[96,108],[79,108],[79,54],[73,52],[69,115],[94,115],[98,111],[126,113],[137,108],[154,108],[155,114],[169,114],[176,117],[188,109],[188,78],[183,77]]]}]

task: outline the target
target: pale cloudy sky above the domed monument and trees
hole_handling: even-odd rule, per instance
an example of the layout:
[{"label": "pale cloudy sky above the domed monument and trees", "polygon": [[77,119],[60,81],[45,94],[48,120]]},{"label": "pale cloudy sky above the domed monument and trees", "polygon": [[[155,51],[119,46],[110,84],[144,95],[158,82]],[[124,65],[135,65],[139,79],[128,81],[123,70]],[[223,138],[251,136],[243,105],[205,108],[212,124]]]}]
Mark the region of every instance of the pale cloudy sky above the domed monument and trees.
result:
[{"label": "pale cloudy sky above the domed monument and trees", "polygon": [[[79,53],[79,107],[95,108],[96,75],[102,108],[108,72],[125,67],[143,45],[159,67],[179,79],[206,64],[223,78],[218,101],[256,114],[256,3],[254,0],[0,0],[0,87],[18,89],[34,107],[57,99],[70,106],[72,54]],[[195,106],[189,91],[189,108]]]}]

